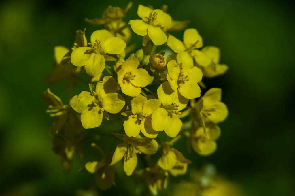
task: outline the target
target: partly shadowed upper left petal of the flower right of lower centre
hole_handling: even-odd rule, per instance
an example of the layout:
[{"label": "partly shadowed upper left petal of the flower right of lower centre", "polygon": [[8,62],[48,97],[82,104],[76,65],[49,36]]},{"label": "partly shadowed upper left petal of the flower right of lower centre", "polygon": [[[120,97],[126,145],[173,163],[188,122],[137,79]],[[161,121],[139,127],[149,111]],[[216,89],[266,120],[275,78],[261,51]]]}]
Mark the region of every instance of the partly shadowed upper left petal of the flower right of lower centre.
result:
[{"label": "partly shadowed upper left petal of the flower right of lower centre", "polygon": [[174,91],[171,89],[171,86],[168,81],[163,82],[159,88],[157,89],[157,94],[159,97],[159,100],[164,105],[171,105]]}]

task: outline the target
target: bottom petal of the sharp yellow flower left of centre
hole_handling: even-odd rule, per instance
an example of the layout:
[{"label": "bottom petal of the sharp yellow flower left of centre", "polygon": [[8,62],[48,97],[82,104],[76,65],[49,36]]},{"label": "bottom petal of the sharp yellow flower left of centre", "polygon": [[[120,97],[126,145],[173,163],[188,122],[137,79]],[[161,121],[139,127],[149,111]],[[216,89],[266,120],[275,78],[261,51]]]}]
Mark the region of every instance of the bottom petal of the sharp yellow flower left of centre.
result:
[{"label": "bottom petal of the sharp yellow flower left of centre", "polygon": [[99,106],[92,107],[81,114],[81,122],[85,129],[98,127],[102,122],[102,111]]}]

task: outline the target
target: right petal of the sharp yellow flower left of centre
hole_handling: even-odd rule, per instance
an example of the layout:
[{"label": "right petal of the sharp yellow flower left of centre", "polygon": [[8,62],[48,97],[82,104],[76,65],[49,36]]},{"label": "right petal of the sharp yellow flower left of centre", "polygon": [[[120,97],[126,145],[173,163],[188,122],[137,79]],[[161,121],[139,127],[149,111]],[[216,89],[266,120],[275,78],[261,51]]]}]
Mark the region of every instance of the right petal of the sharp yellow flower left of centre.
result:
[{"label": "right petal of the sharp yellow flower left of centre", "polygon": [[112,114],[120,112],[125,105],[125,99],[118,93],[110,93],[102,99],[101,107]]}]

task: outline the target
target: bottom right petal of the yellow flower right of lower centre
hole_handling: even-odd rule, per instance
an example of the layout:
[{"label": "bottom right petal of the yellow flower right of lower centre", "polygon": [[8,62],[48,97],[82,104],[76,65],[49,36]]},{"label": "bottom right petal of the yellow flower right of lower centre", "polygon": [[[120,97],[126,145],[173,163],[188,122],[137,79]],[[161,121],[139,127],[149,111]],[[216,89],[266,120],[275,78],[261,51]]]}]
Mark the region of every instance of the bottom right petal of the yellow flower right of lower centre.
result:
[{"label": "bottom right petal of the yellow flower right of lower centre", "polygon": [[169,137],[174,138],[181,130],[181,127],[182,122],[179,117],[176,114],[171,113],[168,117],[167,126],[165,127],[164,131]]}]

